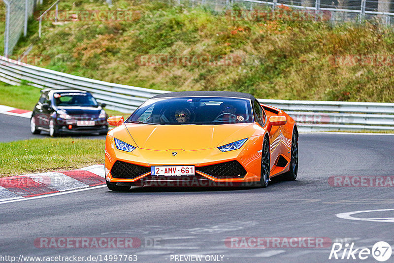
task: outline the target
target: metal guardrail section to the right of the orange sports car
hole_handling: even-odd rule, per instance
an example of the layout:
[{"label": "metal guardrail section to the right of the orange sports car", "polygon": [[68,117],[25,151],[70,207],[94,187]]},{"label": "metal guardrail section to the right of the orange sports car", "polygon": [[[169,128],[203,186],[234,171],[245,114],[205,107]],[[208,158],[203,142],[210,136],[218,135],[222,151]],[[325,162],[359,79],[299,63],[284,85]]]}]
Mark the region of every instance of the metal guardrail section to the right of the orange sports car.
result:
[{"label": "metal guardrail section to the right of the orange sports car", "polygon": [[286,111],[302,131],[394,131],[394,103],[258,100]]}]

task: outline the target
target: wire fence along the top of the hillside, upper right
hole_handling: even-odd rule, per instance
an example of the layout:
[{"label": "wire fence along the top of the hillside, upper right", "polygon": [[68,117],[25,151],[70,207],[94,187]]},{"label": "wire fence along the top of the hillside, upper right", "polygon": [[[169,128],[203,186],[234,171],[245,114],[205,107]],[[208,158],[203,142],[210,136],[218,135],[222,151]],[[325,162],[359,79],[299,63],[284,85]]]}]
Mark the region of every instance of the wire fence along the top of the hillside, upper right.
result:
[{"label": "wire fence along the top of the hillside, upper right", "polygon": [[394,24],[394,0],[160,0],[171,5],[188,7],[203,5],[215,11],[225,11],[235,4],[248,10],[268,6],[274,11],[278,7],[308,10],[317,16],[335,22],[361,22],[368,20],[385,25]]}]

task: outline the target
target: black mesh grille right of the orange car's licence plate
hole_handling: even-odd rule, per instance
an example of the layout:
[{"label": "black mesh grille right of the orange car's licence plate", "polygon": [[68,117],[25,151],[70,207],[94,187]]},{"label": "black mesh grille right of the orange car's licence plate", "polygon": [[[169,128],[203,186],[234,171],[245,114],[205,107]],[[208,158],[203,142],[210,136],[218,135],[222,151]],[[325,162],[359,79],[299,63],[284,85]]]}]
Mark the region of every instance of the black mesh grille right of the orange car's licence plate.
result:
[{"label": "black mesh grille right of the orange car's licence plate", "polygon": [[245,168],[237,161],[196,167],[196,170],[216,178],[243,178],[246,175]]}]

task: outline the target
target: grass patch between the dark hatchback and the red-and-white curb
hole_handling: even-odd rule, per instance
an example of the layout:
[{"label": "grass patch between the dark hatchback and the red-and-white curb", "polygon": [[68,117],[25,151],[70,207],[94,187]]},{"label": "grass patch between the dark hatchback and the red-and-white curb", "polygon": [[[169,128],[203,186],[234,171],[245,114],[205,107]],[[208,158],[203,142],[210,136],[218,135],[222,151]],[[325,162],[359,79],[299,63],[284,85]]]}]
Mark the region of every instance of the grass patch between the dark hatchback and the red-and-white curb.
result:
[{"label": "grass patch between the dark hatchback and the red-and-white curb", "polygon": [[100,139],[43,138],[0,143],[0,176],[70,170],[104,163]]}]

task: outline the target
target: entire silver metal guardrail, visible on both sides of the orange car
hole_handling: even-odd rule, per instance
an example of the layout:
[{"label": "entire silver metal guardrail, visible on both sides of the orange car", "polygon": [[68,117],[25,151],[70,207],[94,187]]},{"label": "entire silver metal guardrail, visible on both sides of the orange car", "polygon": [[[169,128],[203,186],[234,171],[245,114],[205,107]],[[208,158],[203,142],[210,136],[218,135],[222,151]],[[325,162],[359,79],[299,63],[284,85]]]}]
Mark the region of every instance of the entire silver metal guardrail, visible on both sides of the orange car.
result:
[{"label": "entire silver metal guardrail, visible on both sides of the orange car", "polygon": [[[167,91],[79,77],[0,56],[0,81],[40,89],[89,91],[108,109],[131,113],[146,99]],[[394,103],[258,99],[286,111],[299,131],[394,131]]]}]

